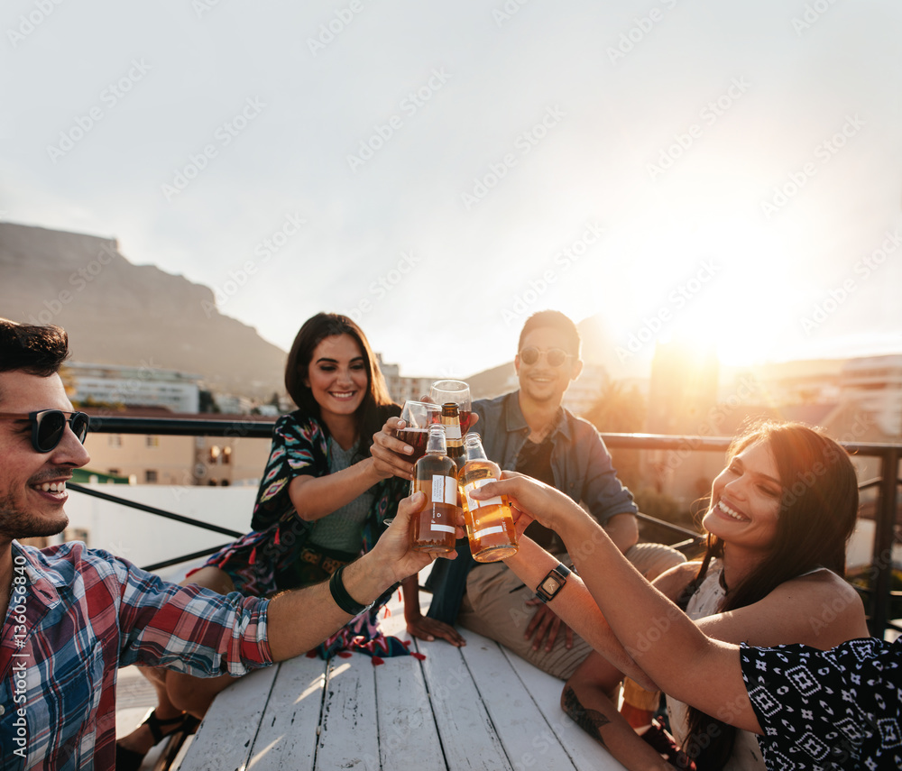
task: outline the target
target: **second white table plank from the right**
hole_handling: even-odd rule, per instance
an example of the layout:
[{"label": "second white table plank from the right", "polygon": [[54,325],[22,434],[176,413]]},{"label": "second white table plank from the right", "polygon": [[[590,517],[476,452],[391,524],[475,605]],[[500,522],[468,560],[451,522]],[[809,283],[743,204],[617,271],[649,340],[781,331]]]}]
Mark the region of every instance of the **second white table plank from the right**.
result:
[{"label": "second white table plank from the right", "polygon": [[[565,748],[498,643],[466,629],[461,633],[466,638],[466,646],[461,648],[465,662],[511,766],[517,771],[532,767],[573,771]],[[560,693],[560,681],[545,676],[557,683]],[[554,703],[557,705],[557,699]]]}]

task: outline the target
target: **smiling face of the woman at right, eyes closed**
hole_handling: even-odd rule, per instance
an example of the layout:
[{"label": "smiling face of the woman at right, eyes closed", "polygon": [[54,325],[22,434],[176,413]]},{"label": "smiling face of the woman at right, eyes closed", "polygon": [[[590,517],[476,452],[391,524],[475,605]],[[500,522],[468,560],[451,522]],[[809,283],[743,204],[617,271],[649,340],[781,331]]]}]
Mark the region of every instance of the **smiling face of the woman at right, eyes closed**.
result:
[{"label": "smiling face of the woman at right, eyes closed", "polygon": [[768,551],[777,533],[782,497],[773,453],[766,443],[755,442],[733,455],[714,479],[702,525],[726,544]]}]

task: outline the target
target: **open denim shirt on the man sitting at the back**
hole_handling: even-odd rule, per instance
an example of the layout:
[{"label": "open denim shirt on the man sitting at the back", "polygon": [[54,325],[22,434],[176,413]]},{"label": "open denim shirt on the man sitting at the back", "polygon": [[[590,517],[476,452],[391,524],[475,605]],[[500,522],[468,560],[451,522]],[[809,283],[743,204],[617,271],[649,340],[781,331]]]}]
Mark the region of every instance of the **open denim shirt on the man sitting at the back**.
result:
[{"label": "open denim shirt on the man sitting at the back", "polygon": [[[485,454],[502,469],[513,471],[529,437],[529,426],[520,410],[520,392],[474,401],[473,410],[479,416],[475,430],[483,439]],[[599,524],[615,514],[638,512],[632,493],[617,479],[611,454],[591,423],[560,408],[549,436],[557,490],[582,504]],[[436,560],[426,584],[433,592],[428,617],[448,624],[456,620],[466,575],[475,564],[466,541],[458,542],[457,555],[454,562]]]}]

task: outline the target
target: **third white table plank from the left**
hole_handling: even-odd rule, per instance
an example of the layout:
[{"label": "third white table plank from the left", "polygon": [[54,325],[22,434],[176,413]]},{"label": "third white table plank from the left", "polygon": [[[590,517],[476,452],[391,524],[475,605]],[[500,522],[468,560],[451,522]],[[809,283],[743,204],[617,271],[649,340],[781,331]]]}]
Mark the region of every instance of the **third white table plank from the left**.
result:
[{"label": "third white table plank from the left", "polygon": [[318,771],[379,771],[376,679],[369,656],[335,656],[328,665],[317,749]]}]

